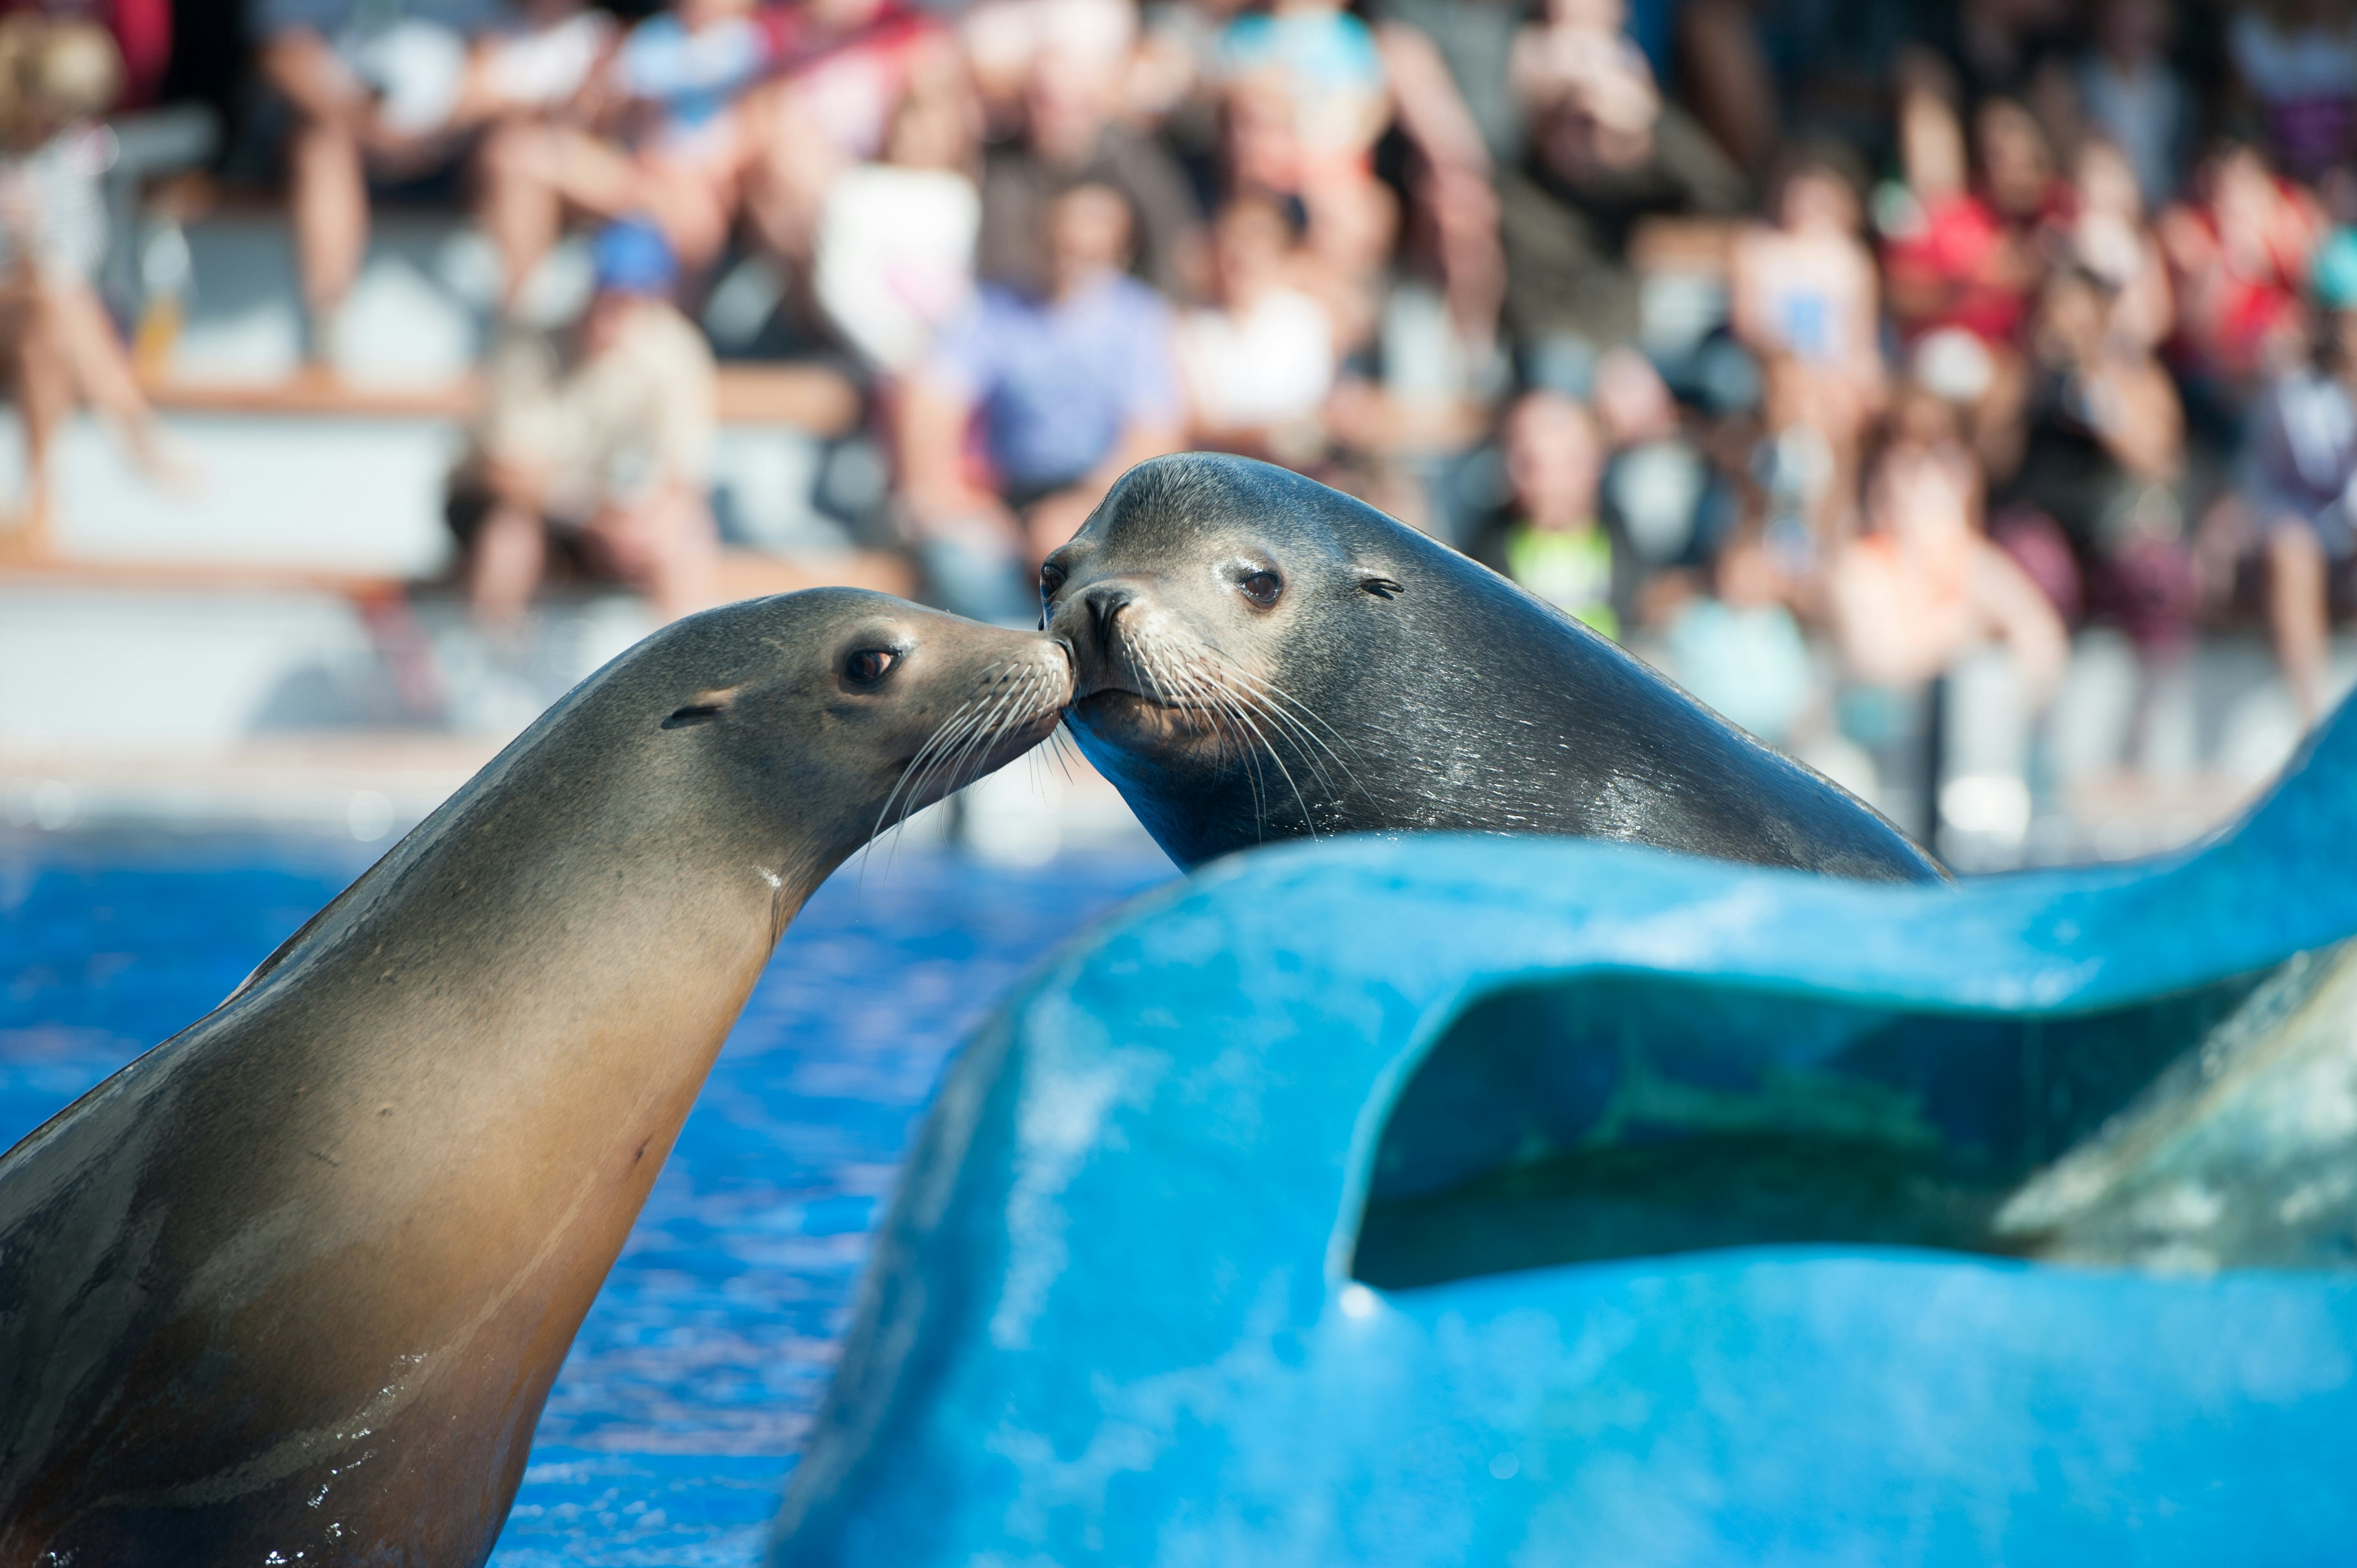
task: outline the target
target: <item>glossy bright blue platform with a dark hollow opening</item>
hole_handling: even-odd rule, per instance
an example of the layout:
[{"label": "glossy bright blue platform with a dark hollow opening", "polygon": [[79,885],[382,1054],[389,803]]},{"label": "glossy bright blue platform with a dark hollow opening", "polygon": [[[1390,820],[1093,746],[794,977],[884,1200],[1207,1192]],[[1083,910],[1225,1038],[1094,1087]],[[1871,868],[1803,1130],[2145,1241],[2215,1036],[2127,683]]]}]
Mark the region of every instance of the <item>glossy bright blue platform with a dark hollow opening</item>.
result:
[{"label": "glossy bright blue platform with a dark hollow opening", "polygon": [[[773,1561],[2357,1561],[2352,828],[2345,712],[2126,868],[1214,865],[952,1063]],[[2003,1238],[2154,1118],[2225,1177]]]}]

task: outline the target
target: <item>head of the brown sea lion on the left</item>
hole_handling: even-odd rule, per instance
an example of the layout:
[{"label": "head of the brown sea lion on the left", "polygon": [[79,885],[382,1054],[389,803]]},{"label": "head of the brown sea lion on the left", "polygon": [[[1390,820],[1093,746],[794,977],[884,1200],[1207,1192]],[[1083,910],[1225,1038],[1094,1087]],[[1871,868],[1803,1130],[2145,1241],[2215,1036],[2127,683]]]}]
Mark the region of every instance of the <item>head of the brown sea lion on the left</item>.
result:
[{"label": "head of the brown sea lion on the left", "polygon": [[853,587],[705,611],[646,653],[618,670],[636,743],[792,821],[820,865],[1028,752],[1072,691],[1049,637]]}]

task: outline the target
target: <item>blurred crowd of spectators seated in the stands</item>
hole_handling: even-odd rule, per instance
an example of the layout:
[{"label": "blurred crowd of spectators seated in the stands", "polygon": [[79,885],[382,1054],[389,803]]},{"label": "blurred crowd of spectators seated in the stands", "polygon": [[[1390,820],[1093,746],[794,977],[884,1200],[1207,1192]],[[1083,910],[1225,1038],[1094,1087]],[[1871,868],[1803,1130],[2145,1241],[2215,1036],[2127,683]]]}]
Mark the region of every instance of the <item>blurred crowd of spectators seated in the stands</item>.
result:
[{"label": "blurred crowd of spectators seated in the stands", "polygon": [[[0,309],[28,424],[80,391],[167,465],[78,207],[94,116],[153,92],[125,14],[113,57],[87,12],[0,24]],[[486,620],[559,564],[714,594],[712,323],[752,278],[761,351],[860,391],[865,538],[971,615],[1030,620],[1124,467],[1216,448],[1803,755],[1921,740],[1893,703],[1968,663],[2036,714],[2086,625],[2161,684],[2246,620],[2303,719],[2329,698],[2350,0],[252,0],[247,33],[316,361],[379,191],[443,179],[495,248],[448,505]],[[568,233],[594,299],[537,321]]]}]

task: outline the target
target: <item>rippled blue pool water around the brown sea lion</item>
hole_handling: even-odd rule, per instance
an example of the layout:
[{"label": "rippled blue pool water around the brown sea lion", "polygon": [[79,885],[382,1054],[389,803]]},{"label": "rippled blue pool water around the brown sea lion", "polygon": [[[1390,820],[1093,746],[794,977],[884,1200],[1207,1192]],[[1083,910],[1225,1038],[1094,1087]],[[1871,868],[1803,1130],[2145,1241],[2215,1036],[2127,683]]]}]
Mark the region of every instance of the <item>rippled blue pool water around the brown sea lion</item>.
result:
[{"label": "rippled blue pool water around the brown sea lion", "polygon": [[[0,849],[0,1148],[219,1002],[363,861]],[[549,1396],[495,1568],[752,1563],[943,1059],[1153,858],[846,870],[778,946]]]}]

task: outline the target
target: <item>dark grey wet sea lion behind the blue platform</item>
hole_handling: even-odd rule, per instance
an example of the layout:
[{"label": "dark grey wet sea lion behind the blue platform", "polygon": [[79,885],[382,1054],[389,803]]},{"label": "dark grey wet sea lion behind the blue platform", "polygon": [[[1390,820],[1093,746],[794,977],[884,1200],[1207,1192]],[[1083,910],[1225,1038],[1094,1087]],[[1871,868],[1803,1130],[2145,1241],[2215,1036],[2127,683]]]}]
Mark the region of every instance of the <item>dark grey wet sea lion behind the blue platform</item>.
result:
[{"label": "dark grey wet sea lion behind the blue platform", "polygon": [[1039,573],[1070,726],[1181,865],[1329,832],[1567,832],[1883,882],[1855,795],[1374,507],[1266,462],[1129,469]]}]

